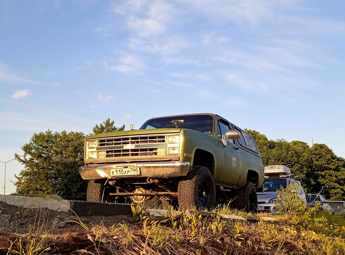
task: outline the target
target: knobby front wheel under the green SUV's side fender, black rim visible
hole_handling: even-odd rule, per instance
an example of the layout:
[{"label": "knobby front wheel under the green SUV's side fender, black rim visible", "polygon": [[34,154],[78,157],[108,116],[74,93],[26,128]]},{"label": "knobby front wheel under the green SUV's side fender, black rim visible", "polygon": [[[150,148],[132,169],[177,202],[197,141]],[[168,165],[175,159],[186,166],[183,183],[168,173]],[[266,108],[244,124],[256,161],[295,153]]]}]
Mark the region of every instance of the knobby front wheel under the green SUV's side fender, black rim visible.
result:
[{"label": "knobby front wheel under the green SUV's side fender, black rim visible", "polygon": [[193,169],[178,183],[179,207],[211,210],[215,201],[216,186],[210,170],[206,166],[193,166]]}]

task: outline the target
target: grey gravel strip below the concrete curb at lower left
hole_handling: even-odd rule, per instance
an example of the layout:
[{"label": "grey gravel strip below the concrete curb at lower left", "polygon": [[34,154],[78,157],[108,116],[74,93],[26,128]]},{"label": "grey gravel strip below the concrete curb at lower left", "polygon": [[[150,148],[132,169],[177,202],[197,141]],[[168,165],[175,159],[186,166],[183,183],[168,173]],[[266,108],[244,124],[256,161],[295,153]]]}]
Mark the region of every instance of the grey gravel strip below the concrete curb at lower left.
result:
[{"label": "grey gravel strip below the concrete curb at lower left", "polygon": [[[123,219],[126,221],[126,218]],[[95,225],[112,226],[115,223],[122,222],[115,220],[90,220],[87,218],[80,218],[80,221],[87,227],[91,228]],[[26,234],[29,232],[36,232],[37,229],[52,234],[64,234],[72,230],[72,232],[85,231],[80,224],[71,222],[79,222],[76,216],[60,215],[54,218],[42,217],[41,215],[33,216],[25,213],[10,213],[3,209],[0,209],[0,232],[3,233],[17,233]]]}]

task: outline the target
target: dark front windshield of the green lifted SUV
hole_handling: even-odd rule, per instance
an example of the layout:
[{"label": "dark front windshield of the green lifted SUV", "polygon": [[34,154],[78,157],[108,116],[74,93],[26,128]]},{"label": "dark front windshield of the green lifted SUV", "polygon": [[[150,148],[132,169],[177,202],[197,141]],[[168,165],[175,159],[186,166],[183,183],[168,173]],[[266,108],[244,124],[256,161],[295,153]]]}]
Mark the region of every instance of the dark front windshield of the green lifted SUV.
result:
[{"label": "dark front windshield of the green lifted SUV", "polygon": [[209,114],[180,115],[148,120],[140,129],[191,129],[205,134],[213,134],[213,116]]}]

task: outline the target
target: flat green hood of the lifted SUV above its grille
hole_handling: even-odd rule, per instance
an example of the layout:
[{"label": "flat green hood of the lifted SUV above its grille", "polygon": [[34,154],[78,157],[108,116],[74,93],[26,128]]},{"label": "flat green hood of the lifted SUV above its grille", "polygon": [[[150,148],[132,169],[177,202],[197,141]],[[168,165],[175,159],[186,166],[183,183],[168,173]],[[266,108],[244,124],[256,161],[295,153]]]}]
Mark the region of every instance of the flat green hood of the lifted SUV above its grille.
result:
[{"label": "flat green hood of the lifted SUV above its grille", "polygon": [[97,135],[88,135],[86,139],[111,137],[111,136],[126,136],[126,135],[145,135],[145,134],[164,134],[164,133],[179,133],[181,129],[134,129],[127,131],[117,131],[110,133],[100,133]]}]

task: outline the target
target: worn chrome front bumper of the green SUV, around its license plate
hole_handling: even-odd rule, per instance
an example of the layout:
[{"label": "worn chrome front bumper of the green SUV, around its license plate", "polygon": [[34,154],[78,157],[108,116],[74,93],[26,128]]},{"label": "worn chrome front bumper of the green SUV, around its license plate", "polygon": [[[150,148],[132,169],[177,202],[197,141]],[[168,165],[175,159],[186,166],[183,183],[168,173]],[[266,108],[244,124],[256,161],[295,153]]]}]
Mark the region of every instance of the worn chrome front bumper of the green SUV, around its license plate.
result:
[{"label": "worn chrome front bumper of the green SUV, around its license plate", "polygon": [[[119,168],[139,167],[139,175],[112,176],[110,170]],[[96,166],[79,167],[79,173],[84,180],[97,180],[103,178],[138,178],[138,177],[176,177],[186,176],[190,168],[189,162],[159,162],[159,163],[126,163],[126,164],[109,164]]]}]

